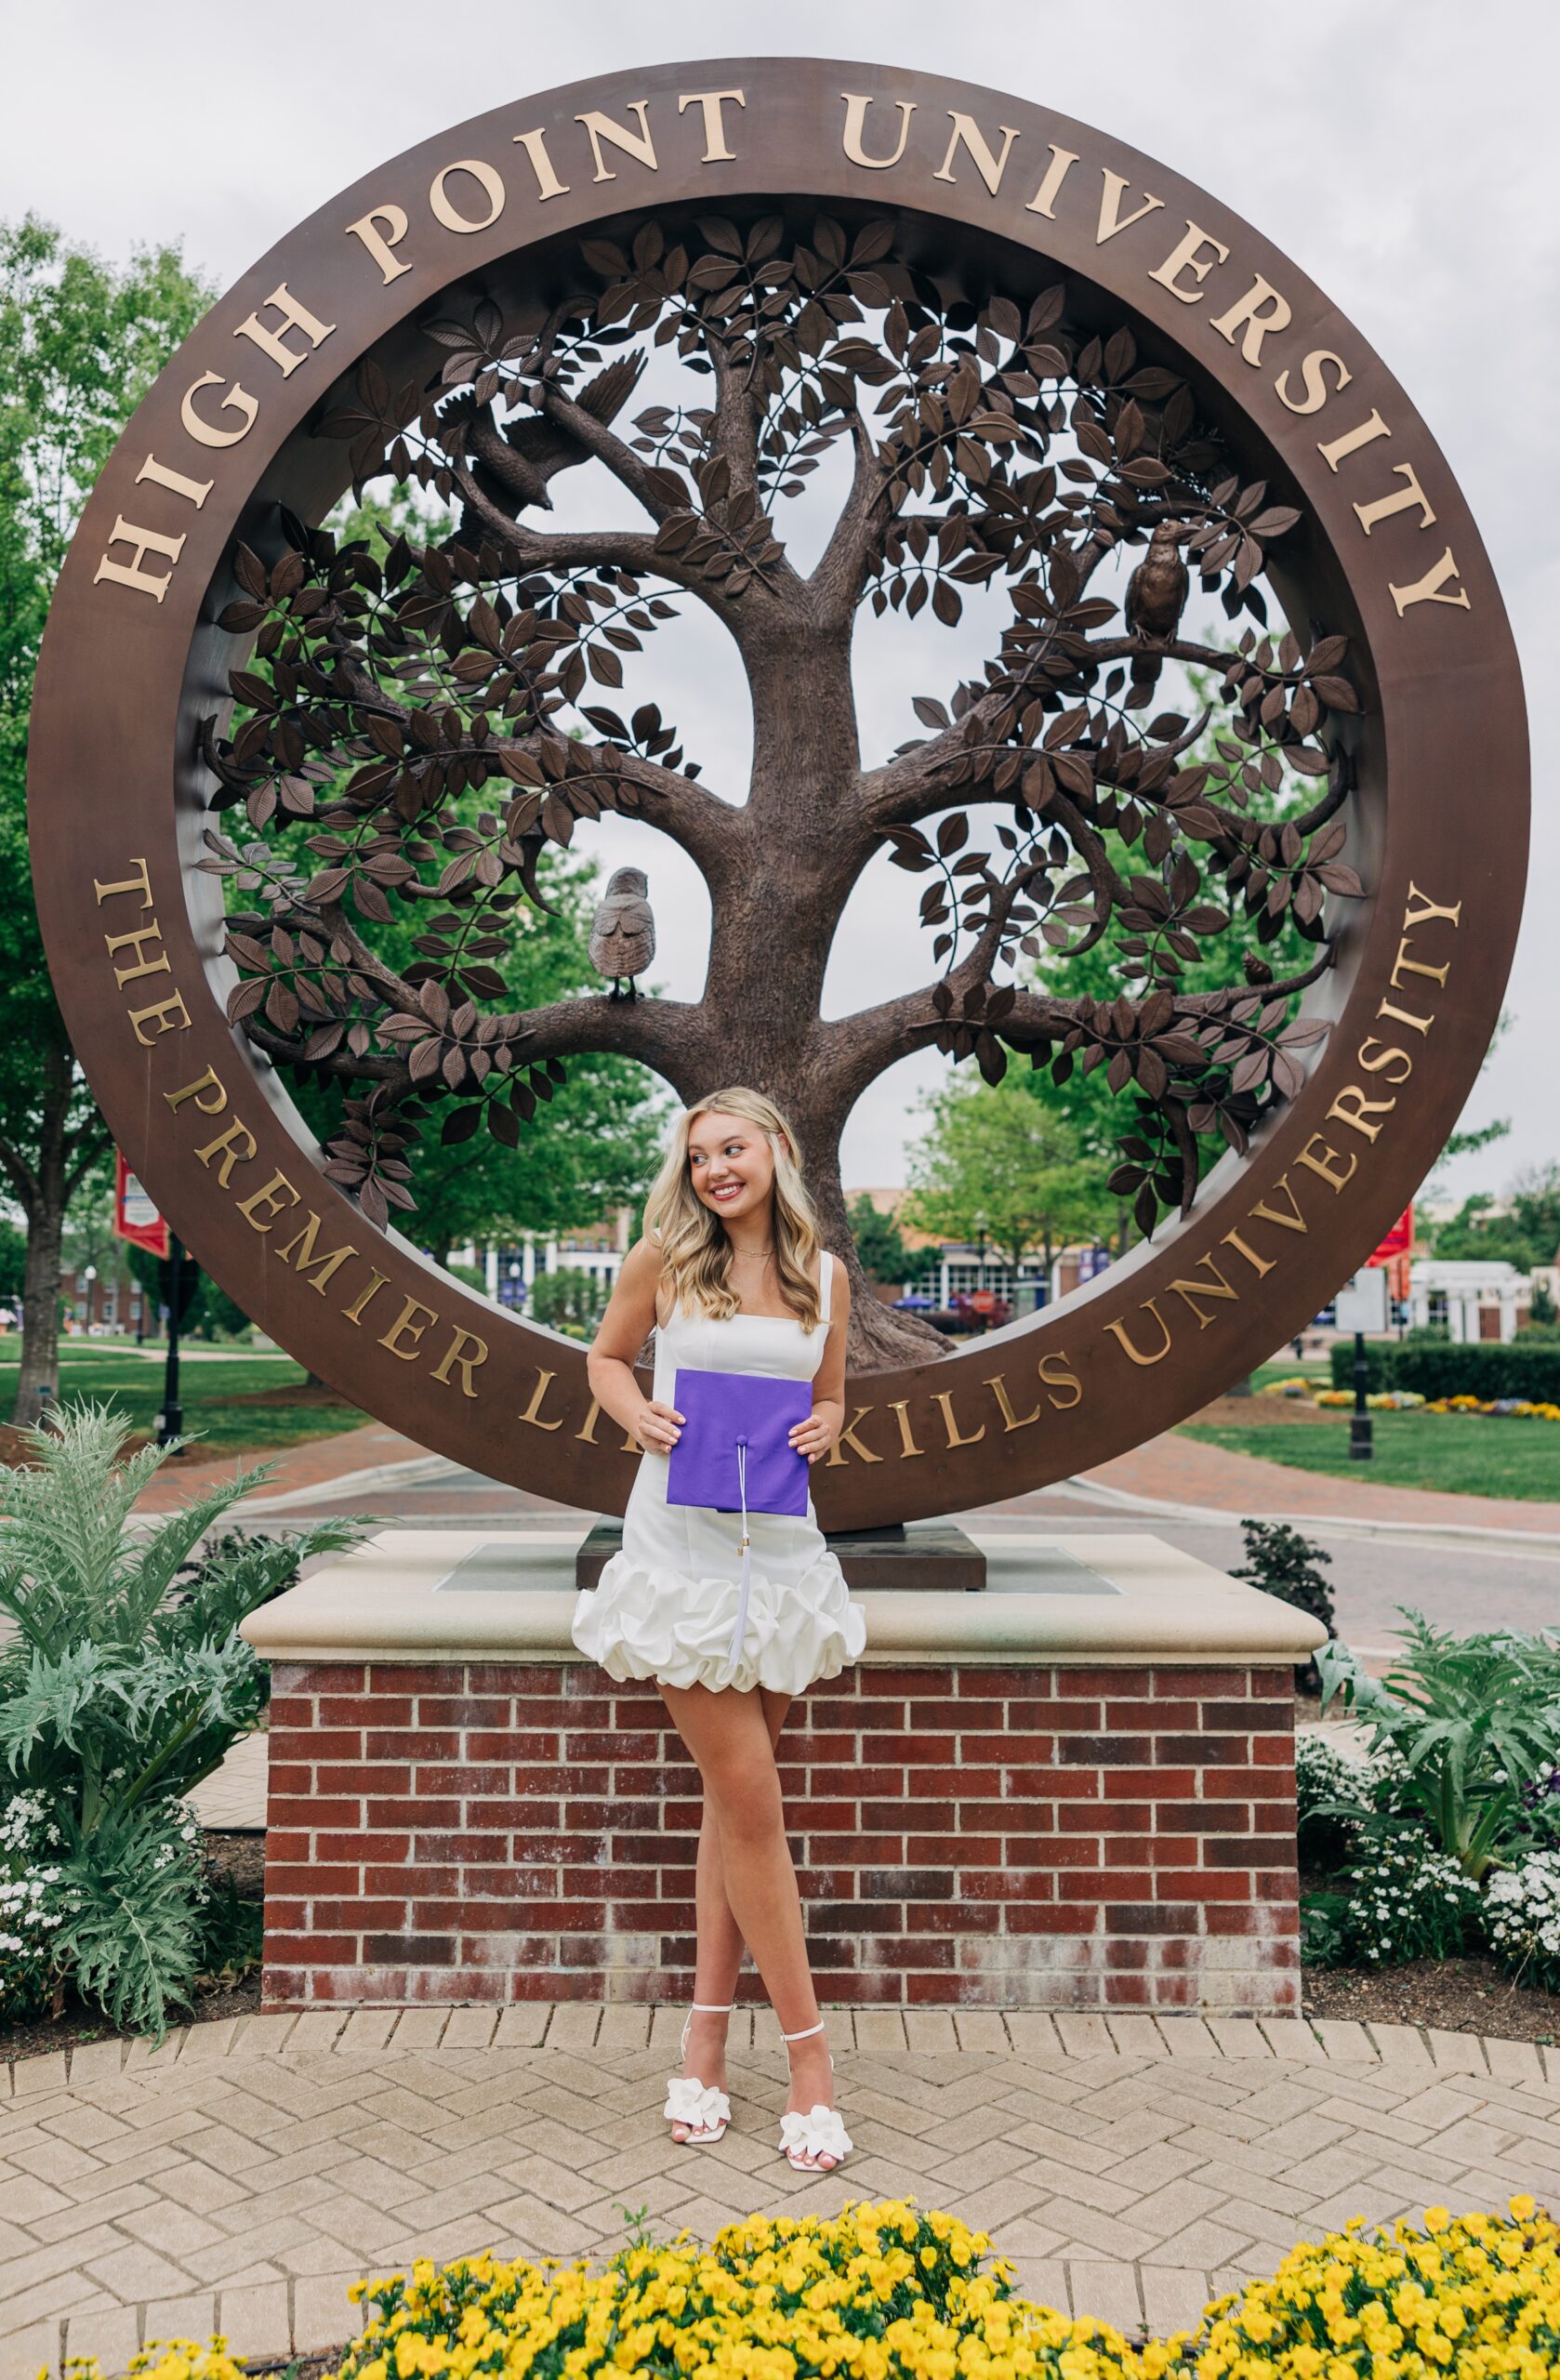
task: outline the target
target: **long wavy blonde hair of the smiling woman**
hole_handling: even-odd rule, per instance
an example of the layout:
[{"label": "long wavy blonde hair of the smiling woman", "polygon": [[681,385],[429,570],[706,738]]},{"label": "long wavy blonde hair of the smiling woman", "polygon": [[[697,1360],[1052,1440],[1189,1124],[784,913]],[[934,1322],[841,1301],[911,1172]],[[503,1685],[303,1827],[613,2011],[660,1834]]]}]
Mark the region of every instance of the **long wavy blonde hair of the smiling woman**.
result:
[{"label": "long wavy blonde hair of the smiling woman", "polygon": [[781,1297],[803,1330],[817,1330],[824,1316],[815,1276],[824,1242],[803,1183],[795,1133],[774,1100],[765,1100],[762,1090],[748,1090],[743,1083],[712,1090],[707,1100],[681,1111],[662,1169],[650,1185],[645,1235],[660,1242],[662,1288],[669,1292],[667,1311],[707,1314],[722,1323],[738,1311],[726,1226],[693,1190],[688,1166],[693,1123],[710,1114],[757,1123],[769,1142],[774,1154],[774,1269]]}]

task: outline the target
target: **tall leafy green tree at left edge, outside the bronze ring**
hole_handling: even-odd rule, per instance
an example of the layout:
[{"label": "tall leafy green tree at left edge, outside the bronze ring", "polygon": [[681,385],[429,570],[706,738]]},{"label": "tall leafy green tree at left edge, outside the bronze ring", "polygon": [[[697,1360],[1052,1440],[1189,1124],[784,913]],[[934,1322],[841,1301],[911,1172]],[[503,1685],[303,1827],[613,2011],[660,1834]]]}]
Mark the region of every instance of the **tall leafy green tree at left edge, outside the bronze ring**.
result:
[{"label": "tall leafy green tree at left edge, outside the bronze ring", "polygon": [[0,1176],[26,1219],[17,1421],[60,1342],[71,1197],[107,1150],[55,1004],[26,854],[26,724],[50,590],[119,431],[210,305],[179,248],[119,269],[26,217],[0,224]]}]

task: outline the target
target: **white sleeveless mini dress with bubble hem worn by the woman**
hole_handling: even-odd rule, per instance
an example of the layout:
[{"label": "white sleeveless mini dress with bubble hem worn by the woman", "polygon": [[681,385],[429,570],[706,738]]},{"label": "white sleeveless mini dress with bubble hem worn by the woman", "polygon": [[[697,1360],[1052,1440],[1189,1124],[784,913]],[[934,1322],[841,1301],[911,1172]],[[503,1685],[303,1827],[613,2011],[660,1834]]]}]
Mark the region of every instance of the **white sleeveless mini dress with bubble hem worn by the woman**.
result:
[{"label": "white sleeveless mini dress with bubble hem worn by the woman", "polygon": [[[679,1371],[753,1371],[772,1380],[812,1380],[829,1342],[834,1264],[822,1259],[824,1321],[807,1333],[791,1316],[674,1314],[655,1333],[655,1397],[676,1404]],[[755,1511],[748,1611],[736,1668],[729,1666],[738,1618],[741,1514],[667,1504],[664,1454],[645,1452],[624,1514],[622,1554],[586,1587],[569,1633],[610,1678],[662,1685],[769,1685],[800,1695],[836,1678],[867,1642],[867,1609],[850,1602],[845,1573],[824,1545],[812,1497],[807,1516]]]}]

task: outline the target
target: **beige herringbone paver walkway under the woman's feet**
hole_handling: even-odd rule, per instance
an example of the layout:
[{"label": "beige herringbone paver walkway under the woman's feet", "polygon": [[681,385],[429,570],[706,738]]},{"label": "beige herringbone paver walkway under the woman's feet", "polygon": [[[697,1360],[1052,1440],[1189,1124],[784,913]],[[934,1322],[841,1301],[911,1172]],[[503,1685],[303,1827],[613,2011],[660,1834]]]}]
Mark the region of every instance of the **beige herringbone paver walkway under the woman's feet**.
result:
[{"label": "beige herringbone paver walkway under the woman's feet", "polygon": [[522,2006],[195,2025],[0,2066],[0,2380],[148,2337],[333,2347],[345,2285],[414,2254],[612,2254],[626,2213],[915,2192],[991,2230],[1029,2297],[1134,2330],[1350,2213],[1560,2194],[1560,2052],[1408,2025],[836,2011],[857,2152],[776,2152],[769,2011],[731,2035],[734,2123],[672,2144],[681,2009]]}]

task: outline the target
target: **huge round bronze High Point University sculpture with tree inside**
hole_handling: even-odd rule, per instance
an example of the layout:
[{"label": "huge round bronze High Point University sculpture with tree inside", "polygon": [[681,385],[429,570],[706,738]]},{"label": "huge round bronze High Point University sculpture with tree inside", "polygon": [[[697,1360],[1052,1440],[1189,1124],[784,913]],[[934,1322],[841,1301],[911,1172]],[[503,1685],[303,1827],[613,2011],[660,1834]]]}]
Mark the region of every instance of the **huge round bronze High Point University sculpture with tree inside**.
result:
[{"label": "huge round bronze High Point University sculpture with tree inside", "polygon": [[[855,328],[867,317],[876,340]],[[703,357],[717,402],[650,409],[631,440],[612,419],[641,369],[631,338],[655,328]],[[769,512],[834,440],[855,457],[855,514],[845,502],[800,581]],[[648,526],[519,519],[586,457]],[[422,478],[457,521],[438,547],[403,536],[369,583],[312,524],[379,471]],[[1122,624],[1096,635],[1117,602],[1091,581],[1134,547]],[[1231,619],[1250,614],[1212,654],[1215,743],[1208,719],[1138,721],[1165,659],[1210,662],[1181,635],[1188,564]],[[679,769],[657,714],[629,726],[593,700],[586,681],[617,685],[612,650],[653,616],[645,574],[722,616],[755,709],[774,707],[745,807]],[[917,704],[929,738],[862,769],[838,743],[841,716],[855,733],[845,612],[872,595],[915,614],[929,595],[948,616],[960,585],[998,576],[1012,621],[986,678],[953,712]],[[1284,633],[1265,628],[1262,583]],[[262,666],[245,669],[250,645]],[[562,735],[560,704],[598,743]],[[1284,809],[1296,776],[1315,800]],[[486,781],[503,816],[472,823]],[[276,852],[319,823],[317,785],[305,876]],[[960,890],[967,828],[919,821],[962,802],[1007,804],[1015,826],[998,831],[1010,857],[974,854]],[[221,823],[236,804],[262,838],[248,854]],[[705,1000],[483,1009],[483,902],[507,914],[541,845],[600,807],[641,807],[719,888]],[[757,871],[781,833],[784,871]],[[960,1354],[922,1359],[884,1323],[867,1342],[881,1368],[853,1378],[817,1480],[826,1526],[848,1528],[1136,1445],[1362,1261],[1489,1047],[1522,907],[1527,743],[1500,595],[1446,462],[1267,240],[1029,102],[741,60],[603,76],[441,133],[207,314],[71,547],[38,676],[31,835],[71,1038],[202,1264],[364,1409],[581,1507],[622,1511],[631,1483],[584,1352],[381,1228],[386,1200],[405,1204],[407,1133],[391,1126],[414,1085],[505,1138],[579,1050],[638,1054],[684,1097],[762,1078],[817,1135],[838,1245],[838,1128],[881,1064],[926,1042],[991,1078],[1010,1054],[1103,1064],[1136,1100],[1127,1192],[1146,1223],[1181,1211],[1062,1307]],[[946,888],[924,914],[948,966],[924,995],[824,1021],[834,923],[876,847]],[[241,869],[264,897],[229,923]],[[1274,981],[1253,952],[1243,983],[1188,990],[1208,916],[1229,923],[1205,873],[1258,942],[1288,933],[1315,962]],[[448,916],[398,971],[369,928],[412,878]],[[1124,928],[1112,1000],[1048,973],[996,983],[998,962],[1038,952],[1031,926],[1081,952],[1105,923]],[[324,1159],[283,1064],[357,1092]],[[1210,1130],[1229,1154],[1198,1188]]]}]

